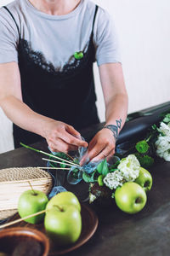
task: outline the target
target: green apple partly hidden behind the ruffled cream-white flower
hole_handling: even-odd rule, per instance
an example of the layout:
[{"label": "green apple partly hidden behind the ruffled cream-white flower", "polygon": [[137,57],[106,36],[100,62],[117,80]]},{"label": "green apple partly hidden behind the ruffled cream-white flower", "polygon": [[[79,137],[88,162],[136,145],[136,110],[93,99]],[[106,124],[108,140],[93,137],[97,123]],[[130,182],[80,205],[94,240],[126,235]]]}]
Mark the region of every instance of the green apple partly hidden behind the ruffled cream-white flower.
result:
[{"label": "green apple partly hidden behind the ruffled cream-white flower", "polygon": [[150,175],[150,172],[145,170],[143,167],[139,168],[139,177],[137,177],[134,181],[135,183],[138,183],[145,192],[150,191],[152,186],[152,177]]}]

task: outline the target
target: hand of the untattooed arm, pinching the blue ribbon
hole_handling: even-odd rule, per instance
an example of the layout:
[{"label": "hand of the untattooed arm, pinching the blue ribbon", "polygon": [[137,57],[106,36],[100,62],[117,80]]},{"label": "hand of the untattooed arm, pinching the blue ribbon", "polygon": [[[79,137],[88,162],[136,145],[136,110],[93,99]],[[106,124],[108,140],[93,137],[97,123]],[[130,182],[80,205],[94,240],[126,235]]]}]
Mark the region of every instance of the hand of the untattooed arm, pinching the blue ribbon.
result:
[{"label": "hand of the untattooed arm, pinching the blue ribbon", "polygon": [[82,141],[80,133],[71,125],[53,119],[48,119],[42,137],[46,138],[49,148],[54,152],[68,153],[78,147],[88,147],[88,143]]}]

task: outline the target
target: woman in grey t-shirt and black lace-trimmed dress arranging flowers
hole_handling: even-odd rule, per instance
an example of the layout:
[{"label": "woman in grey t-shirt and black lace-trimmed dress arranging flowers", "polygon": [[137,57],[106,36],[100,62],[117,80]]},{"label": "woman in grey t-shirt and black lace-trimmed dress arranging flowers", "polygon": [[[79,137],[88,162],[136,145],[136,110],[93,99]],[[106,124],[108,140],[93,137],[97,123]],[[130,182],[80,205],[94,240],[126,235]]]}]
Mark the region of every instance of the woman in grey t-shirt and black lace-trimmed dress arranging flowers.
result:
[{"label": "woman in grey t-shirt and black lace-trimmed dress arranging flowers", "polygon": [[[99,123],[93,62],[105,97],[105,128],[83,142],[77,130]],[[47,140],[53,151],[88,147],[82,159],[115,152],[127,116],[116,33],[88,0],[15,0],[0,9],[0,106],[14,123],[14,146]]]}]

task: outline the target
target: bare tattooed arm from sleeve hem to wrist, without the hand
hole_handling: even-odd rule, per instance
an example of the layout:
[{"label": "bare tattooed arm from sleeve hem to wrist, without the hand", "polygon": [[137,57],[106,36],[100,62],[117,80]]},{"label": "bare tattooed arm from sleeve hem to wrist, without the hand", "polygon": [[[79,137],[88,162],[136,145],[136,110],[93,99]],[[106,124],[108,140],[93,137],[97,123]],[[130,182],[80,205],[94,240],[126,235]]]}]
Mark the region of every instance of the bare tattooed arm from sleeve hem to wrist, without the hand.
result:
[{"label": "bare tattooed arm from sleeve hem to wrist, without the hand", "polygon": [[105,98],[105,125],[113,125],[118,135],[127,117],[128,102],[122,65],[120,63],[101,65],[99,73]]}]

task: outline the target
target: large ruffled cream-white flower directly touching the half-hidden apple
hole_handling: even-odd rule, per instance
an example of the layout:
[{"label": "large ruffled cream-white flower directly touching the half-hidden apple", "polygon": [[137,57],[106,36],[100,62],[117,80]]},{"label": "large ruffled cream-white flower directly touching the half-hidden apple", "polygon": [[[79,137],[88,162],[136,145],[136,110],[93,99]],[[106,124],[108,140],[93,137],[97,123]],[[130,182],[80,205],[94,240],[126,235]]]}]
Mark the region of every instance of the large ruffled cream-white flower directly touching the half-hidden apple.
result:
[{"label": "large ruffled cream-white flower directly touching the half-hidden apple", "polygon": [[139,160],[134,154],[129,154],[126,158],[122,159],[117,168],[122,172],[122,177],[127,182],[133,182],[139,177]]}]

